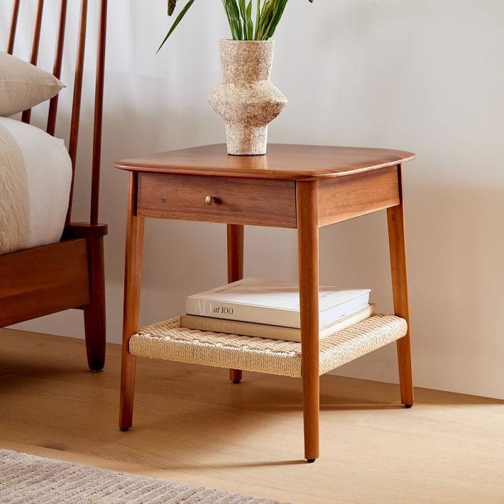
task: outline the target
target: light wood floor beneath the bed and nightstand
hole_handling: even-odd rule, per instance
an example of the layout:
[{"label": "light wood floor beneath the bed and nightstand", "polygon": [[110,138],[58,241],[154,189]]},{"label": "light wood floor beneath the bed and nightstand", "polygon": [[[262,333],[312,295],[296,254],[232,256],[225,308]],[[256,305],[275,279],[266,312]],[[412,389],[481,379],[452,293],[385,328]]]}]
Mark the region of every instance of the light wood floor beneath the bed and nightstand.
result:
[{"label": "light wood floor beneath the bed and nightstand", "polygon": [[300,381],[138,359],[120,432],[119,346],[0,329],[0,447],[292,503],[502,503],[504,402],[324,376],[322,457],[302,456]]}]

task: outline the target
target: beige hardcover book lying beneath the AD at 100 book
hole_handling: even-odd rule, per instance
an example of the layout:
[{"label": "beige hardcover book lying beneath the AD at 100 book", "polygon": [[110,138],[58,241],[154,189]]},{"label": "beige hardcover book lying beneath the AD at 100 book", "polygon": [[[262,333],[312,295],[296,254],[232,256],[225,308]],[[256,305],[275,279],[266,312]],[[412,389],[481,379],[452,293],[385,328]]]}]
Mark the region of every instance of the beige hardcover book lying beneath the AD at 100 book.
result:
[{"label": "beige hardcover book lying beneath the AD at 100 book", "polygon": [[[375,305],[368,305],[357,312],[351,313],[341,319],[320,328],[319,339],[327,338],[336,332],[353,326],[372,317]],[[301,329],[295,327],[270,326],[267,324],[253,324],[253,322],[239,322],[238,320],[214,319],[213,317],[199,317],[199,315],[181,315],[180,325],[187,329],[199,331],[222,332],[238,334],[239,336],[253,336],[265,339],[282,339],[283,341],[301,341]]]}]

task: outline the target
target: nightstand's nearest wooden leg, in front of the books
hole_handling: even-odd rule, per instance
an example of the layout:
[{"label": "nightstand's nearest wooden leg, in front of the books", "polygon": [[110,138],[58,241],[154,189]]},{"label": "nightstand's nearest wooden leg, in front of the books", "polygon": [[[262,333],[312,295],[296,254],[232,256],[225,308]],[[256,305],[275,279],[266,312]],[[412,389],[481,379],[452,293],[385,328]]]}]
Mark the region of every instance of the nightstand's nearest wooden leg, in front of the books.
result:
[{"label": "nightstand's nearest wooden leg, in front of the books", "polygon": [[305,459],[319,458],[319,226],[317,182],[297,182]]}]

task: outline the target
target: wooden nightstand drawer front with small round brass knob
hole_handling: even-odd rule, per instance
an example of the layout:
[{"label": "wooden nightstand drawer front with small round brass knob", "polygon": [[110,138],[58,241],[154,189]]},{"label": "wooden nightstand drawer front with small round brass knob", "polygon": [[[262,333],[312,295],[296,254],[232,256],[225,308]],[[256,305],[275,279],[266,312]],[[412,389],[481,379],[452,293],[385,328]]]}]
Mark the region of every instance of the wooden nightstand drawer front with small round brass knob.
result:
[{"label": "wooden nightstand drawer front with small round brass knob", "polygon": [[[207,204],[207,197],[212,198],[212,204]],[[140,173],[137,214],[295,228],[295,182]]]}]

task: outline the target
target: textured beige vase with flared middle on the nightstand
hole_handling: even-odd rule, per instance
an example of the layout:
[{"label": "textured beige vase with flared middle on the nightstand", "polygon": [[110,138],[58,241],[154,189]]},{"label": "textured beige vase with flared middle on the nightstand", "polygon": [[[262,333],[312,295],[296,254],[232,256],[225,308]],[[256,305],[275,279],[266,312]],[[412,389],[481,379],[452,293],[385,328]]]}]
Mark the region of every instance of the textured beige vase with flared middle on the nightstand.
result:
[{"label": "textured beige vase with flared middle on the nightstand", "polygon": [[224,82],[208,101],[226,124],[229,154],[265,154],[268,124],[287,105],[269,81],[274,44],[273,40],[220,41]]}]

